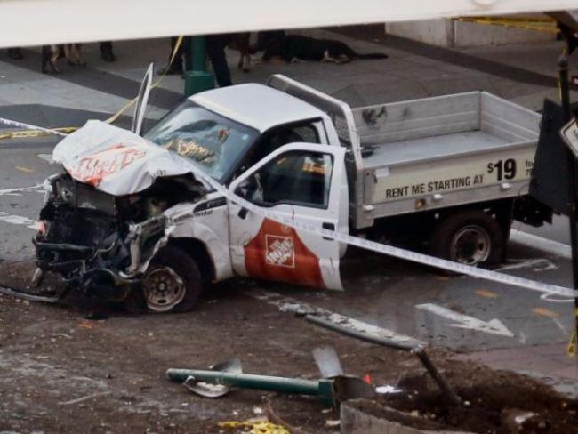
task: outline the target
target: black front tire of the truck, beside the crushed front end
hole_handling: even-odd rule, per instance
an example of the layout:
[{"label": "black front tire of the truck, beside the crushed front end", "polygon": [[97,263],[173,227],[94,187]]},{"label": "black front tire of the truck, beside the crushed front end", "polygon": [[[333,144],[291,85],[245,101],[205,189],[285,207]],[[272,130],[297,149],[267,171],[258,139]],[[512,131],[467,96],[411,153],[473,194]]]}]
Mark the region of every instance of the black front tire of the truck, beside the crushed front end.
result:
[{"label": "black front tire of the truck, beside the crushed front end", "polygon": [[[177,285],[179,289],[175,292],[179,294],[178,297],[167,297],[163,304],[162,297],[158,296],[158,287],[154,285],[159,279],[161,284]],[[151,290],[151,287],[157,291]],[[197,262],[181,248],[167,245],[150,261],[149,269],[142,278],[142,285],[133,289],[124,301],[124,306],[133,313],[188,312],[195,308],[202,292],[203,280]]]}]

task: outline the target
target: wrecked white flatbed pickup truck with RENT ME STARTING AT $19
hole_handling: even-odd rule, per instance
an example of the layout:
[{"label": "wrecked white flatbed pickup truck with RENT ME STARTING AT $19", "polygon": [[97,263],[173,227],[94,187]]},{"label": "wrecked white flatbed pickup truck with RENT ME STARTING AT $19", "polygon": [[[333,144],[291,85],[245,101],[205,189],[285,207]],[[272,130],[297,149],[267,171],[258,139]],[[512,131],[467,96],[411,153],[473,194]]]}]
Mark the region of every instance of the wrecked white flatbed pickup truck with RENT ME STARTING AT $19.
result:
[{"label": "wrecked white flatbed pickup truck with RENT ME STARTING AT $19", "polygon": [[345,245],[205,173],[312,227],[492,265],[512,219],[551,217],[527,196],[539,123],[487,92],[351,109],[285,76],[194,95],[143,137],[90,121],[54,149],[37,264],[152,311],[235,276],[341,289]]}]

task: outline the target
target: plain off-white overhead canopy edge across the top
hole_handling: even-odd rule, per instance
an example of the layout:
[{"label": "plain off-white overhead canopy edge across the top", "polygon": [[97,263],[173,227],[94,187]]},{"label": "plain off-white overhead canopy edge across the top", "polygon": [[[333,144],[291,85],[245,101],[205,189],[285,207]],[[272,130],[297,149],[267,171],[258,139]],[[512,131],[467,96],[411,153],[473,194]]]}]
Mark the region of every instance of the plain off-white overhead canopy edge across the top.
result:
[{"label": "plain off-white overhead canopy edge across the top", "polygon": [[0,0],[0,47],[575,7],[576,0]]}]

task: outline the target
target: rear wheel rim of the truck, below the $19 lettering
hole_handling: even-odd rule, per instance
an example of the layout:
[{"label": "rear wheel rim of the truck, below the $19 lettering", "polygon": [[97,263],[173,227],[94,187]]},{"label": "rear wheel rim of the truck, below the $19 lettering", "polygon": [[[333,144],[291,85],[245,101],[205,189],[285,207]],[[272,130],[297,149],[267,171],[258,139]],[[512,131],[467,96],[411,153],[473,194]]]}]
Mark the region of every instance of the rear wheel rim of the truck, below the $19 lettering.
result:
[{"label": "rear wheel rim of the truck, below the $19 lettering", "polygon": [[460,229],[452,238],[452,260],[467,265],[477,265],[490,255],[491,240],[480,226],[470,225]]}]

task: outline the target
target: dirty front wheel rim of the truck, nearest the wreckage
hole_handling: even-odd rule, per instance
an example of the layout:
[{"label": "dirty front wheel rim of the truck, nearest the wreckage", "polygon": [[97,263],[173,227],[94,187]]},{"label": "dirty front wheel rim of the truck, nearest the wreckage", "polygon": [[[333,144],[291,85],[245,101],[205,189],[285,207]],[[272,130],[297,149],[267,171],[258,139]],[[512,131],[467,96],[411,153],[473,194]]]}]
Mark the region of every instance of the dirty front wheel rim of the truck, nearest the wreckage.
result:
[{"label": "dirty front wheel rim of the truck, nearest the wreckage", "polygon": [[167,312],[185,297],[187,288],[181,277],[169,267],[151,269],[142,279],[147,307],[155,312]]}]

